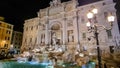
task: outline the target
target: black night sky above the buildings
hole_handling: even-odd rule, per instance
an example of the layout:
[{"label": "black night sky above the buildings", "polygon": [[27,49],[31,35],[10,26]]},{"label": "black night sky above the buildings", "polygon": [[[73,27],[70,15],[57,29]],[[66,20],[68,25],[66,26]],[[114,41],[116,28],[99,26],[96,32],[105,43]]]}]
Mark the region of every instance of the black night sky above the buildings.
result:
[{"label": "black night sky above the buildings", "polygon": [[[5,17],[5,21],[14,25],[14,30],[23,31],[24,20],[34,18],[37,12],[49,6],[52,0],[0,0],[0,16]],[[61,0],[62,2],[69,0]],[[98,0],[79,0],[80,5],[88,4]],[[120,13],[119,4],[117,2],[117,13]],[[120,17],[120,15],[118,15]]]}]

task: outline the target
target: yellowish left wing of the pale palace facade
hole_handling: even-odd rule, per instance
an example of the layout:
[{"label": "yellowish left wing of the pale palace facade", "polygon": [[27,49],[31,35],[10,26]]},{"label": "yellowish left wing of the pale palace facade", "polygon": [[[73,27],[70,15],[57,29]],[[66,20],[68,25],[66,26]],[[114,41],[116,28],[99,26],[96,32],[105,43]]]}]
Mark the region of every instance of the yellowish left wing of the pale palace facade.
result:
[{"label": "yellowish left wing of the pale palace facade", "polygon": [[27,46],[27,48],[29,48],[29,47],[32,48],[33,45],[36,45],[35,42],[37,41],[37,39],[39,39],[37,37],[39,30],[40,29],[39,29],[39,19],[38,18],[26,20],[25,24],[24,24],[23,42],[22,42],[21,48],[24,48],[26,46]]}]

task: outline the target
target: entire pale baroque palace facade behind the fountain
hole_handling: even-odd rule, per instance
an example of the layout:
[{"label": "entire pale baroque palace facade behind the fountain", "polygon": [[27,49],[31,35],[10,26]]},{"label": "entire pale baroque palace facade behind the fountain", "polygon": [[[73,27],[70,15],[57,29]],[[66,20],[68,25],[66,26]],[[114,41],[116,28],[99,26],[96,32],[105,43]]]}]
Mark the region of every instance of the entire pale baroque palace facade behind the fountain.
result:
[{"label": "entire pale baroque palace facade behind the fountain", "polygon": [[[96,41],[94,38],[89,39],[93,33],[88,32],[86,15],[89,10],[97,8],[97,22],[109,27],[106,17],[109,13],[116,16],[115,3],[112,0],[103,0],[83,6],[77,5],[76,0],[64,3],[53,0],[50,2],[50,7],[37,12],[37,17],[25,20],[21,49],[33,50],[57,44],[65,45],[64,47],[70,52],[75,48],[94,50]],[[111,31],[99,28],[99,43],[102,50],[109,50],[109,46],[115,45],[114,40],[119,38],[116,18]]]}]

